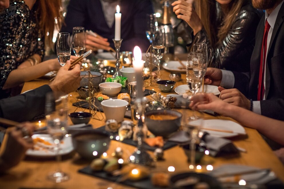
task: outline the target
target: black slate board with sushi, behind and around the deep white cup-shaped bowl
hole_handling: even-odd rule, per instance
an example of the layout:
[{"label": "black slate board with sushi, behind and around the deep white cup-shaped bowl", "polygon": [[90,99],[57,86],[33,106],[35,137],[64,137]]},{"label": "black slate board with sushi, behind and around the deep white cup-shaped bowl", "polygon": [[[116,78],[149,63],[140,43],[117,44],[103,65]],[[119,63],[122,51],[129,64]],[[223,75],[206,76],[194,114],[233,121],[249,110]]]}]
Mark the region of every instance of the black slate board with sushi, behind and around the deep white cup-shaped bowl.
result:
[{"label": "black slate board with sushi, behind and around the deep white cup-shaped bowl", "polygon": [[[128,88],[122,88],[121,91],[119,93],[128,93]],[[155,93],[155,91],[149,90],[149,89],[145,89],[144,90],[144,96],[148,96]],[[117,99],[117,96],[115,97],[111,97],[112,99]],[[104,112],[102,110],[102,105],[100,104],[101,102],[98,100],[95,100],[95,106],[98,107],[98,109],[100,110],[100,112]],[[77,106],[77,107],[81,107],[81,108],[87,108],[89,109],[89,102],[85,102],[85,101],[79,101],[79,102],[75,102],[72,104],[73,106]],[[92,105],[91,105],[92,106]],[[94,107],[92,107],[94,108]],[[127,107],[127,110],[125,112],[124,115],[125,118],[130,118],[131,119],[131,108],[130,106]]]}]

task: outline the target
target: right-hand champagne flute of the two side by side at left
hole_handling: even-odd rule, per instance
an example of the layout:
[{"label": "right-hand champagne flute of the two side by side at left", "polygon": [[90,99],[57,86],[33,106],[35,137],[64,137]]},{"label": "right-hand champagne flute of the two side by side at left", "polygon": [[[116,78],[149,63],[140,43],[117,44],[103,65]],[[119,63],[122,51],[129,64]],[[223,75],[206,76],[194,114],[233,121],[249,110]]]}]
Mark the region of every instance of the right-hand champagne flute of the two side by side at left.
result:
[{"label": "right-hand champagne flute of the two side by side at left", "polygon": [[84,54],[86,49],[85,28],[73,27],[72,47],[75,56],[79,57]]}]

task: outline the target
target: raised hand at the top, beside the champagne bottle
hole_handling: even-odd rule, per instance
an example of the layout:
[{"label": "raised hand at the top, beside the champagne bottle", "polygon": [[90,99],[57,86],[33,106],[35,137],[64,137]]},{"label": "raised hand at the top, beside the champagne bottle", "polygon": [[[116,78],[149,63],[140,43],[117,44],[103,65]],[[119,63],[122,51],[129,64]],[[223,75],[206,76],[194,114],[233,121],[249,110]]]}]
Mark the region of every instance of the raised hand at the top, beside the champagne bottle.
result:
[{"label": "raised hand at the top, beside the champagne bottle", "polygon": [[193,34],[196,35],[203,27],[202,22],[192,7],[192,0],[178,0],[172,4],[173,11],[178,19],[183,19],[193,29]]}]

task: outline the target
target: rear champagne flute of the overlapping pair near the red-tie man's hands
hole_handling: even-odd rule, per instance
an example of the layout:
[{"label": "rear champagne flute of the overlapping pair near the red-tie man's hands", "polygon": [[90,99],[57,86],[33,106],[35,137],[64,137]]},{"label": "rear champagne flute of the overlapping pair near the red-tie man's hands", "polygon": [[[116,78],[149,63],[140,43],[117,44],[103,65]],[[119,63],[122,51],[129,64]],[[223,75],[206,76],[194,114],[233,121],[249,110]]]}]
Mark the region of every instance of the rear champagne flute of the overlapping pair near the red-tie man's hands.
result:
[{"label": "rear champagne flute of the overlapping pair near the red-tie man's hands", "polygon": [[204,75],[207,69],[207,44],[206,43],[195,43],[193,45],[193,55],[192,55],[192,62],[193,62],[193,73],[198,78],[202,78],[202,92],[204,86]]}]

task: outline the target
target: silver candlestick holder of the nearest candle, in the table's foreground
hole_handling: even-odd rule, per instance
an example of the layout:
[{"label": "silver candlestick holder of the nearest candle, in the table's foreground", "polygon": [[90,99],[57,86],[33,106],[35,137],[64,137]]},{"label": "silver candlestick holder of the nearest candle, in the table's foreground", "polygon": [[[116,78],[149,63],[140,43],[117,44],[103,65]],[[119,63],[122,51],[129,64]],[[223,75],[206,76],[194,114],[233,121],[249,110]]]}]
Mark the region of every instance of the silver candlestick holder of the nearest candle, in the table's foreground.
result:
[{"label": "silver candlestick holder of the nearest candle, in the table's foreground", "polygon": [[134,164],[143,165],[143,166],[151,166],[153,159],[151,156],[147,153],[147,151],[143,147],[144,143],[144,134],[142,131],[143,124],[144,124],[144,118],[145,118],[145,104],[147,103],[147,100],[144,99],[136,99],[134,102],[134,107],[136,108],[136,112],[139,115],[138,116],[138,132],[137,132],[137,148],[131,154],[128,161]]}]

